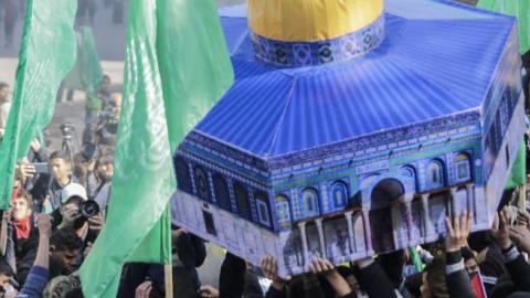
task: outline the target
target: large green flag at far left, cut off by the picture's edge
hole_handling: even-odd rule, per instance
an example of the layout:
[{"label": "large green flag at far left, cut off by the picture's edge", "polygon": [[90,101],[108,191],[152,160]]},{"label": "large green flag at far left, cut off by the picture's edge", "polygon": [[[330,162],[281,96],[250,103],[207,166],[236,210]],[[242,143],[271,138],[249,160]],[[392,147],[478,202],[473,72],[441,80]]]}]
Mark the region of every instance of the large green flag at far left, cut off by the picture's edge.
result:
[{"label": "large green flag at far left, cut off by the picture's edge", "polygon": [[11,202],[14,167],[50,124],[61,82],[75,63],[77,2],[28,0],[13,100],[0,147],[0,209]]}]

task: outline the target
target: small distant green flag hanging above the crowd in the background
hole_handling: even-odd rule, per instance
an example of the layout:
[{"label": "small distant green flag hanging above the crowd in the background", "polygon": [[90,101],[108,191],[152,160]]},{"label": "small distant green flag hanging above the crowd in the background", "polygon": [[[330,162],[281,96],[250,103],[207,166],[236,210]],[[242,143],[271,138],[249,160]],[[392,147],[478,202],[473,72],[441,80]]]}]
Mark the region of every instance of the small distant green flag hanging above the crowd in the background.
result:
[{"label": "small distant green flag hanging above the crowd in the background", "polygon": [[76,40],[77,61],[72,72],[64,79],[64,87],[82,89],[92,94],[99,89],[103,79],[102,63],[96,52],[92,28],[86,25],[80,26],[76,32]]}]

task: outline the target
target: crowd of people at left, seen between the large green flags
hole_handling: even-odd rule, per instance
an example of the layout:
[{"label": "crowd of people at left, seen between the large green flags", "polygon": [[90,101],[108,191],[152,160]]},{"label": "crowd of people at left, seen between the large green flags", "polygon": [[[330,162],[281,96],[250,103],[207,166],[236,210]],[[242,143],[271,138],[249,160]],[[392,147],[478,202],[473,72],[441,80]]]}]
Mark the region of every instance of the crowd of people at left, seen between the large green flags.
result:
[{"label": "crowd of people at left, seen between the large green flags", "polygon": [[[86,100],[87,110],[89,102],[99,105],[86,114],[80,150],[52,151],[43,134],[17,164],[12,204],[1,215],[1,297],[65,297],[68,287],[81,295],[74,287],[80,283],[75,272],[105,225],[114,173],[121,96],[110,93],[109,84],[105,76],[100,89]],[[11,88],[0,83],[0,142],[10,106]],[[63,138],[74,137],[64,130]]]}]

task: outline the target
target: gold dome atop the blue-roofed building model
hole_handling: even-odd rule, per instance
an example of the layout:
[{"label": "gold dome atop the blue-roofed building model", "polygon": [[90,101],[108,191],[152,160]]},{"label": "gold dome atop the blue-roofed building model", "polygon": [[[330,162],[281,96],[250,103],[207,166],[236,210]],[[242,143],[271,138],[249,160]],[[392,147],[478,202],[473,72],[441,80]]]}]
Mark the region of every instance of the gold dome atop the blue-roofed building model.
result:
[{"label": "gold dome atop the blue-roofed building model", "polygon": [[248,25],[271,40],[317,42],[365,28],[383,11],[383,0],[248,0]]}]

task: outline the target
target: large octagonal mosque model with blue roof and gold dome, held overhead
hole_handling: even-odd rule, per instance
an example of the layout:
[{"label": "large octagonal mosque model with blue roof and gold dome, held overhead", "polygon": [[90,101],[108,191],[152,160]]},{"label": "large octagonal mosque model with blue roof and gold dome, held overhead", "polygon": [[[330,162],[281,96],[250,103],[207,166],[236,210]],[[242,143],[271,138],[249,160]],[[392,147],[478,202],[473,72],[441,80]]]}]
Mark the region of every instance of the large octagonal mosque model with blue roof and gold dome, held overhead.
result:
[{"label": "large octagonal mosque model with blue roof and gold dome, held overhead", "polygon": [[220,13],[235,82],[174,156],[174,224],[282,275],[436,241],[454,212],[489,228],[524,132],[513,18],[425,0]]}]

